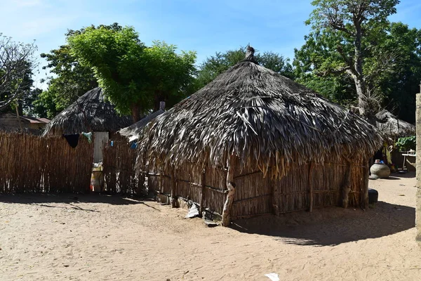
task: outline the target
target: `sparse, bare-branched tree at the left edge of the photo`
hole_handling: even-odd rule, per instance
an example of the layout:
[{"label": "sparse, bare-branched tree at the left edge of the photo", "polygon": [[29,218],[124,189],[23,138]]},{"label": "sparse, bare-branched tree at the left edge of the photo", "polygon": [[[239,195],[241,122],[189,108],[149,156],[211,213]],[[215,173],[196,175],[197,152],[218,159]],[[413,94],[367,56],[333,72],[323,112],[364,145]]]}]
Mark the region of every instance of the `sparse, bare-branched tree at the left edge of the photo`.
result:
[{"label": "sparse, bare-branched tree at the left edge of the photo", "polygon": [[12,41],[0,34],[0,110],[16,103],[32,86],[36,46]]}]

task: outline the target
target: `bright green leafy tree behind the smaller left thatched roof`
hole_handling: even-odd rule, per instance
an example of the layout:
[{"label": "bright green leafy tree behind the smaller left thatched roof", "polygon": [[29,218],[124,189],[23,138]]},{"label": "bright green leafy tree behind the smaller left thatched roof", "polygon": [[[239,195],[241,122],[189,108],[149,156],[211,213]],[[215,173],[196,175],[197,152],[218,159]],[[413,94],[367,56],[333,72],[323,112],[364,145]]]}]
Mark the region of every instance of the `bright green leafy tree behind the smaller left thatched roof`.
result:
[{"label": "bright green leafy tree behind the smaller left thatched roof", "polygon": [[175,46],[161,42],[148,48],[133,27],[118,31],[87,27],[68,42],[79,62],[92,67],[116,110],[131,112],[134,122],[156,99],[180,93],[194,70],[195,53],[178,55]]}]

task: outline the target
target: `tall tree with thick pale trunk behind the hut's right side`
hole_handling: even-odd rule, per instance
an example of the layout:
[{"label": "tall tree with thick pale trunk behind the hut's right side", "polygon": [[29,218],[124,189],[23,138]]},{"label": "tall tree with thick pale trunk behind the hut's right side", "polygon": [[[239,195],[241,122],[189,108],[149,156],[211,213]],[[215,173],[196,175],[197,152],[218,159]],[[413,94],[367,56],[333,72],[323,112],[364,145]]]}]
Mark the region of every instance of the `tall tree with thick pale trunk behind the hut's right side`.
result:
[{"label": "tall tree with thick pale trunk behind the hut's right side", "polygon": [[[393,67],[396,55],[380,52],[376,38],[389,26],[399,0],[316,0],[307,25],[310,37],[328,37],[331,58],[319,74],[347,74],[358,97],[359,113],[375,113],[379,103],[377,77]],[[370,62],[371,64],[368,64]]]}]

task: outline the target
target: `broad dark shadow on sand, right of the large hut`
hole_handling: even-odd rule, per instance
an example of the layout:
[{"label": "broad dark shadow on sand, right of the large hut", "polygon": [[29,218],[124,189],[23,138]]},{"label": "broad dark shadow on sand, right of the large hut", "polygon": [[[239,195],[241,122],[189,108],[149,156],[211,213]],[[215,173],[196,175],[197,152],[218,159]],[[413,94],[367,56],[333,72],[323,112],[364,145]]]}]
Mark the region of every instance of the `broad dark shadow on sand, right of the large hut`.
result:
[{"label": "broad dark shadow on sand, right of the large hut", "polygon": [[326,207],[312,213],[297,212],[234,221],[243,233],[268,235],[288,244],[335,246],[378,238],[415,227],[415,208],[377,202],[370,209]]}]

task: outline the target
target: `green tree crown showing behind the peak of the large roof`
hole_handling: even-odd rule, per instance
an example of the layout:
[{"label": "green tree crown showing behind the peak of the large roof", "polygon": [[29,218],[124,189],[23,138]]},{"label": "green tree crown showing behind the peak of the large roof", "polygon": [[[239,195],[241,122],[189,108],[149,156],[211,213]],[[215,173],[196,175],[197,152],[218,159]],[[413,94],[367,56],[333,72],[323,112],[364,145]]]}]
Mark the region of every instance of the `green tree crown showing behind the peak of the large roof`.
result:
[{"label": "green tree crown showing behind the peak of the large roof", "polygon": [[[225,53],[217,52],[207,58],[199,67],[195,89],[199,90],[213,81],[222,72],[225,72],[245,58],[246,48],[240,47]],[[274,70],[286,77],[293,78],[293,68],[288,58],[273,52],[256,53],[255,60],[262,66]]]}]

